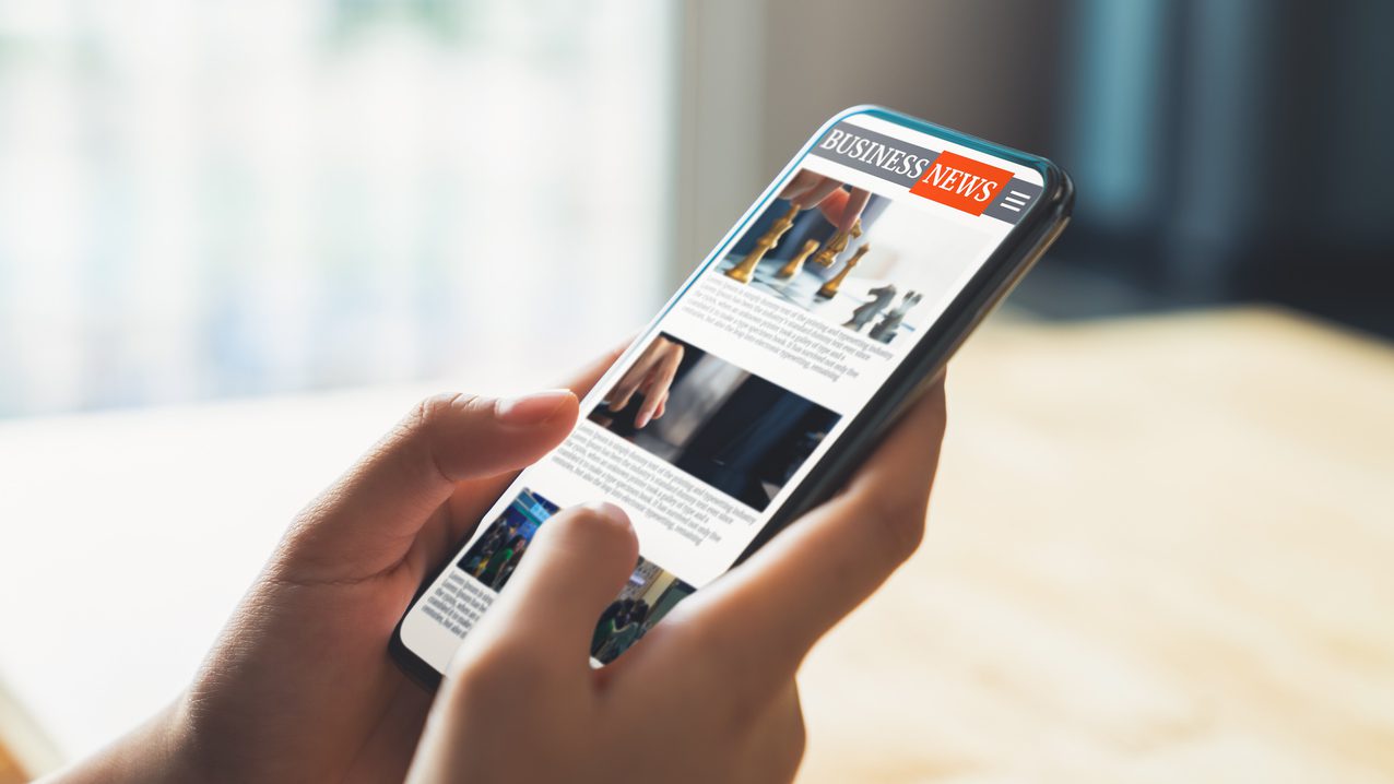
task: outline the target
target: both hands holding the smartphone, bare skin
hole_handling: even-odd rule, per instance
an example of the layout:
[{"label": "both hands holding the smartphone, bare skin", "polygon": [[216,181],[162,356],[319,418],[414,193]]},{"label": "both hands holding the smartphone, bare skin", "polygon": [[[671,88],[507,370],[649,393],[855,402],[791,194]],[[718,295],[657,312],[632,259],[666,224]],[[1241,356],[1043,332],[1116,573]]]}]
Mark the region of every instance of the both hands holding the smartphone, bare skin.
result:
[{"label": "both hands holding the smartphone, bare skin", "polygon": [[572,391],[420,405],[300,514],[190,689],[59,778],[400,781],[415,753],[411,778],[432,783],[789,780],[803,752],[799,663],[919,543],[942,386],[842,494],[601,670],[588,643],[634,567],[634,535],[605,504],[556,515],[432,707],[388,656],[392,629],[577,414]]}]

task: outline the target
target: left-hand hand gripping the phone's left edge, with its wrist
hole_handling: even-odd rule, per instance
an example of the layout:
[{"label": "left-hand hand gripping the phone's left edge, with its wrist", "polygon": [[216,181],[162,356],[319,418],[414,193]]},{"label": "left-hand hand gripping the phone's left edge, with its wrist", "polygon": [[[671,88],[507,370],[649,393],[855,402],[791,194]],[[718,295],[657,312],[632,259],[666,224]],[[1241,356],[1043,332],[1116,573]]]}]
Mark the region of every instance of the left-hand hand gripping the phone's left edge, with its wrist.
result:
[{"label": "left-hand hand gripping the phone's left edge, with its wrist", "polygon": [[300,514],[188,692],[66,780],[400,781],[431,698],[393,627],[616,355],[570,390],[422,402]]}]

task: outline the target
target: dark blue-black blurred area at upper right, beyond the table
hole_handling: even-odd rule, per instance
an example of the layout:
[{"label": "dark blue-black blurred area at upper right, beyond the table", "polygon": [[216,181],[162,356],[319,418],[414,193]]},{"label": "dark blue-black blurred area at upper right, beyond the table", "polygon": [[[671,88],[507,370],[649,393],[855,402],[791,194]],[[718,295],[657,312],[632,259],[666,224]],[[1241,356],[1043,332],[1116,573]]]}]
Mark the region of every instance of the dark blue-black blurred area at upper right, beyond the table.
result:
[{"label": "dark blue-black blurred area at upper right, beyond the table", "polygon": [[1076,0],[1061,245],[1161,304],[1282,302],[1394,334],[1394,4]]}]

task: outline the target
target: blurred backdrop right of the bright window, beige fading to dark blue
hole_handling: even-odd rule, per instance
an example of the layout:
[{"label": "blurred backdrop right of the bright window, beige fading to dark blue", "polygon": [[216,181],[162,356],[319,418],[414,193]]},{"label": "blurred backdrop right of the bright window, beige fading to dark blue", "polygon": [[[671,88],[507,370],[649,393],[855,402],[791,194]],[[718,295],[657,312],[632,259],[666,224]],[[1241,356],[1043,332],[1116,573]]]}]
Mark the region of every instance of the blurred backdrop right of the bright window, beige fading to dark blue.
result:
[{"label": "blurred backdrop right of the bright window, beige fading to dark blue", "polygon": [[1072,173],[1075,223],[1019,305],[1266,301],[1394,336],[1391,3],[717,0],[682,21],[677,270],[822,120],[881,103]]}]

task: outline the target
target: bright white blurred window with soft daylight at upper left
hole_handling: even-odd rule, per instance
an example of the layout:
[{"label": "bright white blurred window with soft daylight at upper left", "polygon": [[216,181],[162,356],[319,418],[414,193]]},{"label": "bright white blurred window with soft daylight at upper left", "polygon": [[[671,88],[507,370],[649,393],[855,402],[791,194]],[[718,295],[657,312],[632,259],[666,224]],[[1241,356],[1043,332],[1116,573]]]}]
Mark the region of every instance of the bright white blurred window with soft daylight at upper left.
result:
[{"label": "bright white blurred window with soft daylight at upper left", "polygon": [[665,280],[672,38],[664,3],[0,3],[0,416],[619,340]]}]

